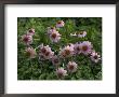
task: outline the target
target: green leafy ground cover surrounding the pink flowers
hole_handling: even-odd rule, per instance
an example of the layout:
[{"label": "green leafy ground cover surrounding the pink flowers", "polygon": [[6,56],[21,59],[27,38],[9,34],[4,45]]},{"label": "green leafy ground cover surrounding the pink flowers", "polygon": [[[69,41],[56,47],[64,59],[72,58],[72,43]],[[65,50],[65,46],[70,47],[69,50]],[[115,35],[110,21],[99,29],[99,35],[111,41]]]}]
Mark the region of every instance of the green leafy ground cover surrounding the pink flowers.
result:
[{"label": "green leafy ground cover surrounding the pink flowers", "polygon": [[[47,28],[54,26],[57,20],[64,20],[65,27],[60,29],[62,39],[60,43],[53,44],[48,38]],[[17,79],[18,80],[58,80],[55,69],[51,61],[40,61],[38,56],[28,59],[24,52],[26,46],[22,43],[21,38],[29,28],[35,28],[32,47],[39,44],[49,44],[53,51],[67,43],[78,41],[90,41],[94,50],[102,56],[102,18],[100,17],[37,17],[37,18],[17,18]],[[85,30],[85,38],[71,38],[69,34],[78,30]],[[65,80],[102,80],[102,61],[92,64],[87,56],[77,56],[75,61],[78,64],[78,70],[65,78]],[[62,65],[61,65],[62,66]]]}]

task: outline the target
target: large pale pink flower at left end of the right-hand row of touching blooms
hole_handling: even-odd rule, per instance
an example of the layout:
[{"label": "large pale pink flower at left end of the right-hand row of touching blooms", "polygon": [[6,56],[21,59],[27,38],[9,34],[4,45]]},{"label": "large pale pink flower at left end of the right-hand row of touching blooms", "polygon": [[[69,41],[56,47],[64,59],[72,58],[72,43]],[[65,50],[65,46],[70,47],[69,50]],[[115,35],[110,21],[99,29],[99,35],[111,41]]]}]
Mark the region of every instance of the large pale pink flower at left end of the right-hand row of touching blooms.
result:
[{"label": "large pale pink flower at left end of the right-hand row of touching blooms", "polygon": [[60,51],[60,55],[62,58],[64,57],[70,57],[74,55],[74,46],[67,45],[63,50]]}]

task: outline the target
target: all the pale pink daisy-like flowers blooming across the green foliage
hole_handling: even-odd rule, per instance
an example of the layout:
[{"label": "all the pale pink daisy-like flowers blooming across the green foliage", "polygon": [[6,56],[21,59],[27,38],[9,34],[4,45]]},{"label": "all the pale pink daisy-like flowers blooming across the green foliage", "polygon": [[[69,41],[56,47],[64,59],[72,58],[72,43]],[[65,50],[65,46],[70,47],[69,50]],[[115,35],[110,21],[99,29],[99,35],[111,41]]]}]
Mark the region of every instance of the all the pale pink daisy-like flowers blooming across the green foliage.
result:
[{"label": "all the pale pink daisy-like flowers blooming across the green foliage", "polygon": [[[48,36],[50,37],[52,42],[58,42],[61,39],[61,33],[56,30],[57,28],[64,27],[65,23],[63,20],[58,20],[56,23],[56,27],[48,27]],[[31,44],[32,36],[35,34],[35,29],[29,29],[26,34],[23,36],[23,41],[26,45]],[[75,34],[70,33],[70,36],[77,36],[79,38],[83,38],[87,36],[87,31],[77,32]],[[52,61],[53,66],[56,67],[56,74],[60,79],[64,79],[67,75],[67,72],[76,72],[78,68],[78,64],[74,60],[67,63],[66,68],[60,67],[62,64],[62,59],[77,56],[80,54],[90,56],[91,60],[94,63],[98,63],[101,56],[93,50],[93,45],[89,41],[77,42],[75,44],[69,43],[68,45],[60,48],[57,55],[49,45],[39,45],[39,59],[45,60],[49,59]],[[35,58],[36,51],[30,46],[27,47],[26,53],[30,58]]]}]

